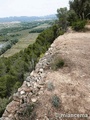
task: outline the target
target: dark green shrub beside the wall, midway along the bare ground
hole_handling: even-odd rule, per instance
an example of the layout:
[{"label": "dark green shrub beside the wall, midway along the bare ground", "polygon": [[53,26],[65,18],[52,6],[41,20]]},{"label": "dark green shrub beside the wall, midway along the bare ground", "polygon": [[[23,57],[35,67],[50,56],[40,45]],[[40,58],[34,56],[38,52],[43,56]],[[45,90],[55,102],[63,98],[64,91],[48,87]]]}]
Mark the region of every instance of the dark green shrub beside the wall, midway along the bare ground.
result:
[{"label": "dark green shrub beside the wall, midway along the bare ground", "polygon": [[62,68],[64,66],[64,60],[60,57],[56,57],[51,62],[51,69],[57,70],[59,68]]}]

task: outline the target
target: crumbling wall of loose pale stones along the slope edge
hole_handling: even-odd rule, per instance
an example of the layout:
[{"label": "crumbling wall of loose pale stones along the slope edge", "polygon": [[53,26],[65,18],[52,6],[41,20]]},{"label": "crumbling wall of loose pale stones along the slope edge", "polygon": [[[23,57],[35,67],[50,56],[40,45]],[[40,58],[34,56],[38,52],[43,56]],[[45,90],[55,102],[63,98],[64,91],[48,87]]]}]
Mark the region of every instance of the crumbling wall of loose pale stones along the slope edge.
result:
[{"label": "crumbling wall of loose pale stones along the slope edge", "polygon": [[35,70],[26,78],[23,85],[12,97],[12,101],[7,105],[6,110],[0,120],[19,120],[19,114],[25,109],[27,104],[38,100],[38,95],[43,92],[44,78],[50,68],[50,61],[55,52],[54,44],[37,63]]}]

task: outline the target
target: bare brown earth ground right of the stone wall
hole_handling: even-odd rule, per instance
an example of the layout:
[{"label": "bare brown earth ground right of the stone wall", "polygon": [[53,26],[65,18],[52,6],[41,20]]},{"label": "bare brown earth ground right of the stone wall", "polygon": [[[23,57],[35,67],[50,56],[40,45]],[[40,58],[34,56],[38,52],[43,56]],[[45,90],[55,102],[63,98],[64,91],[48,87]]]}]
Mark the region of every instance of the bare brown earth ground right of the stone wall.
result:
[{"label": "bare brown earth ground right of the stone wall", "polygon": [[[46,84],[52,82],[54,90],[39,96],[37,120],[89,120],[90,118],[60,118],[60,114],[90,115],[90,31],[69,31],[58,37],[53,45],[66,65],[57,71],[48,70]],[[53,95],[60,98],[60,107],[52,106]],[[47,116],[46,118],[43,116]],[[57,115],[59,117],[57,117]]]}]

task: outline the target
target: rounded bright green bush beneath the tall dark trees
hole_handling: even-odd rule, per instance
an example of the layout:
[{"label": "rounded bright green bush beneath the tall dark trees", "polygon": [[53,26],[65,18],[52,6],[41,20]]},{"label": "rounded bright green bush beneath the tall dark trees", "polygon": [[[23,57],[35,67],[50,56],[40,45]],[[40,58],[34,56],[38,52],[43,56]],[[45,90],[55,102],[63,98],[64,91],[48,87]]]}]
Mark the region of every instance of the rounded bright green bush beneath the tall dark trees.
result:
[{"label": "rounded bright green bush beneath the tall dark trees", "polygon": [[77,22],[72,23],[72,28],[76,31],[83,30],[85,27],[86,21],[85,20],[79,20]]}]

